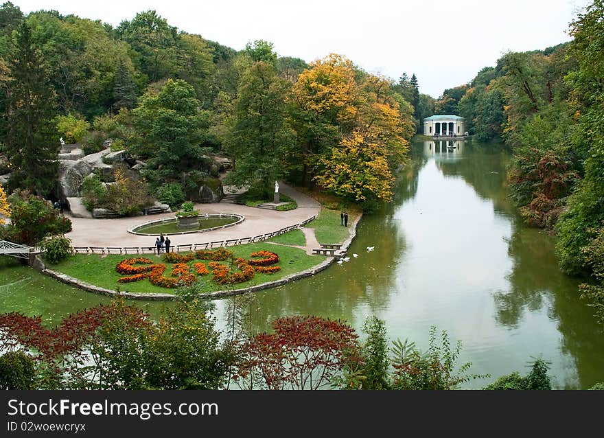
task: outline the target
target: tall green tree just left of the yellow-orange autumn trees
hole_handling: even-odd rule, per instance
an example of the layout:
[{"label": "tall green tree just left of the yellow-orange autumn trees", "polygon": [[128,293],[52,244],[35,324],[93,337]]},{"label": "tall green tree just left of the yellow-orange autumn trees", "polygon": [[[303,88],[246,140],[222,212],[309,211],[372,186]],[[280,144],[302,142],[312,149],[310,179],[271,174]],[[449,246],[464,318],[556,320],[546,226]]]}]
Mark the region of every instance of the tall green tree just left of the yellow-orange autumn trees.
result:
[{"label": "tall green tree just left of the yellow-orange autumn trees", "polygon": [[225,145],[235,161],[229,183],[252,185],[270,197],[275,181],[286,174],[285,159],[294,145],[285,109],[289,87],[263,61],[244,73]]}]

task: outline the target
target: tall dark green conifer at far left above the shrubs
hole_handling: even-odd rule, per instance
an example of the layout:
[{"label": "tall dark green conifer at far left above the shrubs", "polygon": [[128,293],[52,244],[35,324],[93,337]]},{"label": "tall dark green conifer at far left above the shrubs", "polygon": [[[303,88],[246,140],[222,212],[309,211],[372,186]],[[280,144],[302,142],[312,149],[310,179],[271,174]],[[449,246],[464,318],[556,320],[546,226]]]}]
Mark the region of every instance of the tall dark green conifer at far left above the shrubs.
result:
[{"label": "tall dark green conifer at far left above the shrubs", "polygon": [[43,58],[32,47],[30,27],[16,31],[9,62],[8,132],[5,153],[10,162],[9,185],[47,195],[56,184],[59,149],[54,119],[54,93],[48,85]]}]

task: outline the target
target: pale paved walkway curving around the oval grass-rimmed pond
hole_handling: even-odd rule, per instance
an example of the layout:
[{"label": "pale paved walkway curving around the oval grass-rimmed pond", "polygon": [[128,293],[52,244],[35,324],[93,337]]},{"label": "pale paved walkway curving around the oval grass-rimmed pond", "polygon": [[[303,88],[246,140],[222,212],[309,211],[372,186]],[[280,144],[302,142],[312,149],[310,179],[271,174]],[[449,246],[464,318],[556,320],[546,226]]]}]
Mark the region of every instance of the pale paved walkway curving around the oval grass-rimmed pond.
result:
[{"label": "pale paved walkway curving around the oval grass-rimmed pond", "polygon": [[[230,203],[214,204],[196,204],[195,208],[200,214],[216,213],[235,213],[245,216],[245,220],[233,227],[219,229],[215,231],[205,231],[191,234],[170,235],[172,246],[182,244],[194,244],[202,242],[211,242],[219,240],[242,239],[253,237],[259,234],[272,233],[282,228],[299,224],[307,219],[317,215],[321,210],[321,205],[316,200],[297,192],[292,187],[281,184],[279,192],[290,196],[296,200],[298,208],[290,211],[275,211],[259,209],[257,207],[246,207]],[[69,212],[67,213],[69,216]],[[135,218],[117,218],[117,219],[89,219],[70,217],[73,224],[73,231],[67,233],[73,246],[154,246],[154,235],[135,235],[128,233],[130,227],[149,222],[150,220],[159,220],[173,218],[174,213],[154,214],[150,216],[137,216]],[[303,229],[305,235],[307,231],[312,231],[312,238],[307,235],[306,249],[307,253],[312,253],[312,248],[318,248],[314,230]],[[312,248],[310,246],[312,246]],[[310,250],[309,250],[310,248]]]}]

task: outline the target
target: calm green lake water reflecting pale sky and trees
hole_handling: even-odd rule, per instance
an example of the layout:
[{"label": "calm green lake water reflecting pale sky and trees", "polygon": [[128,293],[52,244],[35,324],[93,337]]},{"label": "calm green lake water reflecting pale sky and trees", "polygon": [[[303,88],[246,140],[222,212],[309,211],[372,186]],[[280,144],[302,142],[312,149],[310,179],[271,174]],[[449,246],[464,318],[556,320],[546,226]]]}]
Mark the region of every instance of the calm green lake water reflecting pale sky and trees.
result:
[{"label": "calm green lake water reflecting pale sky and trees", "polygon": [[[604,381],[604,334],[579,299],[580,281],[560,273],[554,238],[522,225],[507,198],[509,153],[469,140],[455,146],[415,141],[395,200],[362,219],[350,261],[258,292],[257,330],[279,316],[316,314],[346,320],[360,332],[375,314],[386,321],[390,338],[409,338],[422,349],[431,325],[447,330],[453,342],[461,339],[460,362],[493,376],[465,388],[524,374],[531,356],[550,362],[558,389]],[[0,267],[0,312],[56,322],[107,301],[27,267]],[[226,303],[216,302],[218,327]],[[146,306],[153,314],[164,304]]]}]

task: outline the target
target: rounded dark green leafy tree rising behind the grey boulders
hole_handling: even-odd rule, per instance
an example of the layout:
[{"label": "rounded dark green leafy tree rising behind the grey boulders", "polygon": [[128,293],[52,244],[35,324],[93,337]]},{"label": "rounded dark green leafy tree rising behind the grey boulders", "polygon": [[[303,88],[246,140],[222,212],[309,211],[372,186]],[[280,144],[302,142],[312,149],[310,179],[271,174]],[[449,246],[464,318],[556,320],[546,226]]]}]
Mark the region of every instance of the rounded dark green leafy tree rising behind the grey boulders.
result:
[{"label": "rounded dark green leafy tree rising behind the grey boulders", "polygon": [[132,151],[149,159],[146,176],[154,185],[202,163],[209,117],[187,82],[169,79],[159,92],[150,89],[132,113],[138,134]]}]

